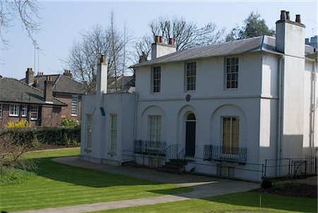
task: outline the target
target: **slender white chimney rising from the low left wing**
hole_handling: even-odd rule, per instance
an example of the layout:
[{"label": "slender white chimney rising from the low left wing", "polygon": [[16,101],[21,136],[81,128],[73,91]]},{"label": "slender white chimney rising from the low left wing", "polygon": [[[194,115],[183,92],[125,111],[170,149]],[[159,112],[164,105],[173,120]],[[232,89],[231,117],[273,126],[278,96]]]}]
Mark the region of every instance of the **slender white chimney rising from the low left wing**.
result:
[{"label": "slender white chimney rising from the low left wing", "polygon": [[107,64],[105,54],[101,54],[97,70],[96,95],[102,96],[105,93],[107,93]]}]

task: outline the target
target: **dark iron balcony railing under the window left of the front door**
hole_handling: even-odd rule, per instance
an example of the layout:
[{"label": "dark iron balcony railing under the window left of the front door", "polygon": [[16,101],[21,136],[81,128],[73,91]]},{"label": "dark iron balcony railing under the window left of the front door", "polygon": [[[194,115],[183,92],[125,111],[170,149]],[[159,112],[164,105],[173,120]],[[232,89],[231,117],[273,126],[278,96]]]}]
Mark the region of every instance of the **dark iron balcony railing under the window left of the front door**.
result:
[{"label": "dark iron balcony railing under the window left of the front door", "polygon": [[165,155],[165,142],[134,140],[134,153]]}]

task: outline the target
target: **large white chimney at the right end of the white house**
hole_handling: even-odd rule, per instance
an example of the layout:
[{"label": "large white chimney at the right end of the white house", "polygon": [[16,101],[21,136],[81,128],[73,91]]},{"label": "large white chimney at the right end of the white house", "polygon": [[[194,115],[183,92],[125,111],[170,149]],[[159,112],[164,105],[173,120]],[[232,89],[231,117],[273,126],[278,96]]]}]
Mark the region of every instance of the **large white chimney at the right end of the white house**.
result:
[{"label": "large white chimney at the right end of the white house", "polygon": [[281,19],[276,21],[276,48],[278,51],[296,57],[305,57],[305,25],[300,23],[300,15],[290,21],[288,11],[281,11]]}]

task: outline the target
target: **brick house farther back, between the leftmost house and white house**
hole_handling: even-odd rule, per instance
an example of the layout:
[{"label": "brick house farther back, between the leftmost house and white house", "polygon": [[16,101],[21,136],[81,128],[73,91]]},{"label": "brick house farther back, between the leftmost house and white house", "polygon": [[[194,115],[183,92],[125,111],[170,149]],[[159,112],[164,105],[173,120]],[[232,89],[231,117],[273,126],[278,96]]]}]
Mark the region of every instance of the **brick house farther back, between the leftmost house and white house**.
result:
[{"label": "brick house farther back, between the leftmost house and white house", "polygon": [[25,72],[25,79],[20,81],[45,91],[47,76],[52,79],[52,95],[54,98],[66,103],[66,106],[61,108],[61,118],[81,120],[81,97],[86,93],[86,87],[71,79],[71,71],[66,69],[64,74],[48,75],[37,72],[37,76],[34,76],[33,70],[28,68]]}]

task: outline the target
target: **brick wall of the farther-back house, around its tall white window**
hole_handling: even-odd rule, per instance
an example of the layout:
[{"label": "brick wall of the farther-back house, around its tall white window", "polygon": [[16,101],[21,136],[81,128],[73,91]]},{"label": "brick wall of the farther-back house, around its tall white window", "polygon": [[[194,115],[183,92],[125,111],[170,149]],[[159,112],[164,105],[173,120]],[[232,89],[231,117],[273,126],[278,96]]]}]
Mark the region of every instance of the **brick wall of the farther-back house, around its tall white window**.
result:
[{"label": "brick wall of the farther-back house, around its tall white window", "polygon": [[67,106],[61,108],[61,116],[66,119],[76,119],[81,120],[81,105],[82,100],[81,96],[78,96],[78,115],[71,115],[72,112],[72,95],[70,94],[62,94],[62,93],[55,93],[54,97],[61,100],[61,102],[66,103]]}]

